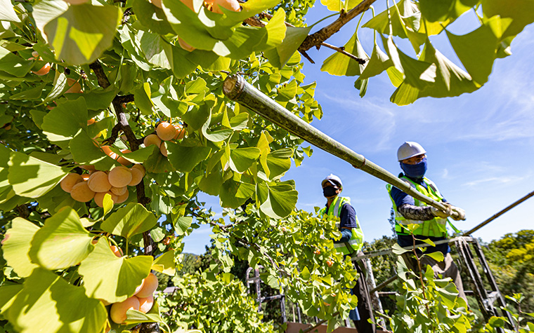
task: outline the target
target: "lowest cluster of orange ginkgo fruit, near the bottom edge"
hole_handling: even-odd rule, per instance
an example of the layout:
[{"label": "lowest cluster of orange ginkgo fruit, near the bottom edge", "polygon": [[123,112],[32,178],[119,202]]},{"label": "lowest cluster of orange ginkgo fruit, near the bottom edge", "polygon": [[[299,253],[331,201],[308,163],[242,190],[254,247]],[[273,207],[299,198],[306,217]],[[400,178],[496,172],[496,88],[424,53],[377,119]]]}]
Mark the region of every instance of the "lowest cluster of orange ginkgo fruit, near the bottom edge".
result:
[{"label": "lowest cluster of orange ginkgo fruit, near the bottom edge", "polygon": [[[110,246],[112,252],[117,257],[122,257],[122,250],[116,245]],[[134,310],[141,311],[142,313],[148,313],[154,305],[154,292],[157,290],[157,276],[154,273],[149,273],[146,278],[143,279],[141,285],[136,288],[131,297],[128,297],[124,301],[110,304],[103,301],[105,306],[110,306],[110,319],[117,323],[122,324],[126,320],[126,311],[133,308]],[[106,332],[110,330],[110,327],[106,329]]]}]

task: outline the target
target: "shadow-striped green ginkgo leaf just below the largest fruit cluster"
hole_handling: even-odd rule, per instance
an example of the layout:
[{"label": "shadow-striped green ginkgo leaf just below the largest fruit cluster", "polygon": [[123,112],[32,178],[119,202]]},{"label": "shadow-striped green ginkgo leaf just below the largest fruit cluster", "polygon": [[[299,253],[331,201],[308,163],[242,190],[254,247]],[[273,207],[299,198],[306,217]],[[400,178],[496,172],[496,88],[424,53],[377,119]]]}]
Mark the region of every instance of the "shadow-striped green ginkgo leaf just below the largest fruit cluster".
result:
[{"label": "shadow-striped green ginkgo leaf just below the largest fruit cluster", "polygon": [[129,203],[119,208],[110,217],[105,219],[101,228],[113,235],[131,238],[133,235],[149,231],[156,225],[157,218],[141,203]]}]

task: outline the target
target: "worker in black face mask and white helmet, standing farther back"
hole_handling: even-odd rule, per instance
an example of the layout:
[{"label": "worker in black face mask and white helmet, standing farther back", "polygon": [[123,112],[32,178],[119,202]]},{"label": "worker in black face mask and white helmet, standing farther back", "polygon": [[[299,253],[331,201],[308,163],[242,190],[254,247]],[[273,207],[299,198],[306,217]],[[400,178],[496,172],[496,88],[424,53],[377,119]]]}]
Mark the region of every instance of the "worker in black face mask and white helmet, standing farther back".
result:
[{"label": "worker in black face mask and white helmet, standing farther back", "polygon": [[[340,220],[339,231],[341,231],[341,238],[334,240],[334,247],[337,252],[341,252],[344,255],[351,255],[353,253],[363,255],[361,252],[363,231],[360,228],[358,217],[356,217],[356,210],[351,205],[351,199],[339,196],[339,193],[343,191],[341,179],[336,175],[329,175],[323,179],[321,185],[323,186],[323,195],[327,199],[327,203],[325,208],[319,211],[319,217],[323,218],[326,214],[328,217],[339,217]],[[372,314],[369,291],[365,283],[365,273],[363,267],[360,266],[363,263],[353,262],[356,271],[360,275],[352,290],[352,293],[358,297],[358,306],[356,309],[351,310],[349,318],[353,320],[358,332],[375,333],[375,318]],[[368,322],[368,319],[371,319],[372,322]]]}]

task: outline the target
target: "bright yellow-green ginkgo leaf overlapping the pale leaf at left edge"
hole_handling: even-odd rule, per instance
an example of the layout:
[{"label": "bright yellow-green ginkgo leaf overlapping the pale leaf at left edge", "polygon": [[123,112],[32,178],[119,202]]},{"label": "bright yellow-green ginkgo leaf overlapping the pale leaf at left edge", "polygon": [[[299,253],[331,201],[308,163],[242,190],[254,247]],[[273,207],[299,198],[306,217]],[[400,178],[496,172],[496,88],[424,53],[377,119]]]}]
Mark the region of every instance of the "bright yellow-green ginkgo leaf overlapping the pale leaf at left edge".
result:
[{"label": "bright yellow-green ginkgo leaf overlapping the pale leaf at left edge", "polygon": [[84,260],[94,246],[93,236],[86,231],[75,210],[60,209],[35,233],[30,258],[46,269],[67,269]]}]

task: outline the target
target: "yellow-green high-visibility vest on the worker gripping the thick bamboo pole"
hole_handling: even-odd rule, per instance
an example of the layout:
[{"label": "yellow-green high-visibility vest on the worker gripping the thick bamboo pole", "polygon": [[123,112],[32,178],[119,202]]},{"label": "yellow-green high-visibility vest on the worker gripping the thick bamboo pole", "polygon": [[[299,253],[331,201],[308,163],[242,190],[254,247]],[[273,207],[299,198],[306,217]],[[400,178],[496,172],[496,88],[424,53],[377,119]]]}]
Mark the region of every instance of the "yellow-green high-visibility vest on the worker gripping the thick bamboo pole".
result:
[{"label": "yellow-green high-visibility vest on the worker gripping the thick bamboo pole", "polygon": [[[432,182],[430,179],[424,177],[423,182],[426,184],[426,189],[421,184],[417,184],[412,181],[412,179],[403,176],[401,179],[404,179],[407,182],[410,182],[412,187],[415,187],[415,189],[419,192],[424,194],[425,196],[428,196],[429,198],[433,198],[435,201],[441,202],[443,201],[443,196],[441,196],[441,193],[439,193],[438,188],[436,187],[436,184]],[[430,219],[428,221],[416,221],[413,219],[406,219],[401,215],[400,212],[397,210],[397,206],[395,205],[395,201],[391,197],[391,184],[387,184],[386,188],[389,193],[389,198],[391,198],[391,202],[393,203],[393,210],[395,211],[395,231],[397,234],[406,235],[410,234],[410,231],[408,229],[403,228],[403,225],[408,224],[419,224],[419,228],[415,229],[413,232],[415,236],[429,236],[429,237],[446,237],[447,236],[447,228],[445,225],[448,222],[448,219],[443,219],[441,217],[434,217],[434,219]],[[419,207],[425,207],[427,206],[426,203],[419,201],[417,198],[414,198],[415,205]]]}]

